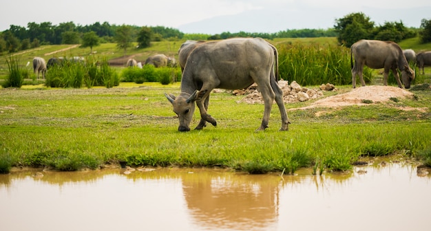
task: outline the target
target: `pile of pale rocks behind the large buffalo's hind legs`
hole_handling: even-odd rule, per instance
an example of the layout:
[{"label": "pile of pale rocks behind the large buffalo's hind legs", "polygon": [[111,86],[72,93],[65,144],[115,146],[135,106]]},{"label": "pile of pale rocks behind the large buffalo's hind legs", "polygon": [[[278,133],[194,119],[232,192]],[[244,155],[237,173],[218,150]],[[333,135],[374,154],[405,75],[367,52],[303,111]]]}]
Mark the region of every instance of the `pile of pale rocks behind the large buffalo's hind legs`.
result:
[{"label": "pile of pale rocks behind the large buffalo's hind legs", "polygon": [[[304,102],[307,100],[319,98],[323,96],[323,92],[320,89],[308,89],[299,86],[295,81],[288,85],[288,81],[280,80],[278,85],[283,91],[284,102]],[[233,91],[235,96],[246,95],[237,102],[246,102],[250,104],[260,103],[263,104],[262,94],[258,91],[256,84],[251,85],[247,89]]]}]

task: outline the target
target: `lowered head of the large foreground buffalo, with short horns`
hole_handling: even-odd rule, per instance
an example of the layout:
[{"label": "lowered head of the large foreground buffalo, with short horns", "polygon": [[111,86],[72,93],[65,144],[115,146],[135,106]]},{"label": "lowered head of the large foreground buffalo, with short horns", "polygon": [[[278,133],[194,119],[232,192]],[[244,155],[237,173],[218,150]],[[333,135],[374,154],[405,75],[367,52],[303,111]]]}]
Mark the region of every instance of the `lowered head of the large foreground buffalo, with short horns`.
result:
[{"label": "lowered head of the large foreground buffalo, with short horns", "polygon": [[190,131],[190,122],[195,112],[194,102],[196,101],[197,92],[195,91],[191,95],[182,92],[178,97],[165,93],[167,100],[174,106],[174,112],[178,115],[178,120],[180,120],[178,131]]}]

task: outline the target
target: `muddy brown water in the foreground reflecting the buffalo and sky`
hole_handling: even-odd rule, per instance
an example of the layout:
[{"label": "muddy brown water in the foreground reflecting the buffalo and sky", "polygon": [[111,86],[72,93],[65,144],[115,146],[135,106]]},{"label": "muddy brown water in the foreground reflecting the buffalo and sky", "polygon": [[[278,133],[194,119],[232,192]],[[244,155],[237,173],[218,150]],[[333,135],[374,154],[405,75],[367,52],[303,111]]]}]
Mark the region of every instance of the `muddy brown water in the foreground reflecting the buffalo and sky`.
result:
[{"label": "muddy brown water in the foreground reflecting the buffalo and sky", "polygon": [[8,231],[429,230],[430,208],[430,175],[402,164],[322,176],[183,168],[0,175],[0,230]]}]

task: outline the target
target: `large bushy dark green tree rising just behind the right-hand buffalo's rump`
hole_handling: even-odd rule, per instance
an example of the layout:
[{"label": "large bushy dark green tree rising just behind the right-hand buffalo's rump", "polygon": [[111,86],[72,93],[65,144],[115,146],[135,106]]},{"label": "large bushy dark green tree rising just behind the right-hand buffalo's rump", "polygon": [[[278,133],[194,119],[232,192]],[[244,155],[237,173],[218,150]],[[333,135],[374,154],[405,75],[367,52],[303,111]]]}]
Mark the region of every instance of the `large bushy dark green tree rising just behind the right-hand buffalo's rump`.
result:
[{"label": "large bushy dark green tree rising just behind the right-hand buffalo's rump", "polygon": [[336,19],[335,22],[334,29],[338,33],[337,40],[341,45],[350,47],[360,39],[373,39],[374,22],[362,12],[348,14],[344,18]]}]

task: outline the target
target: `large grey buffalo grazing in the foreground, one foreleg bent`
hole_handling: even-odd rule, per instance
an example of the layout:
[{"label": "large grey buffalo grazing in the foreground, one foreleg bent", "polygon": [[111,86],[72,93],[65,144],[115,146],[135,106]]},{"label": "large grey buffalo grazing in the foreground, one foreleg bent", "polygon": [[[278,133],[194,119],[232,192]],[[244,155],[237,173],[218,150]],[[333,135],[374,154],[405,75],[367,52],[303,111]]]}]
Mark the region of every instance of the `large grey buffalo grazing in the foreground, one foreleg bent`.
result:
[{"label": "large grey buffalo grazing in the foreground, one foreleg bent", "polygon": [[277,102],[282,115],[281,131],[288,130],[283,91],[277,84],[278,52],[264,39],[226,39],[203,43],[196,47],[187,58],[181,78],[179,96],[165,94],[174,106],[180,126],[178,131],[190,131],[195,104],[200,110],[200,122],[196,129],[203,129],[207,122],[217,125],[207,114],[209,94],[215,88],[244,89],[253,83],[259,86],[264,98],[264,116],[257,129],[268,127],[273,101]]}]

